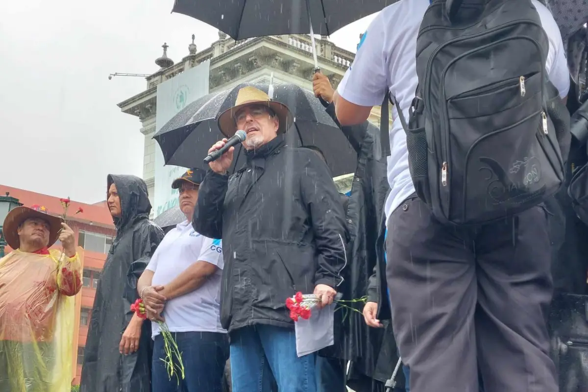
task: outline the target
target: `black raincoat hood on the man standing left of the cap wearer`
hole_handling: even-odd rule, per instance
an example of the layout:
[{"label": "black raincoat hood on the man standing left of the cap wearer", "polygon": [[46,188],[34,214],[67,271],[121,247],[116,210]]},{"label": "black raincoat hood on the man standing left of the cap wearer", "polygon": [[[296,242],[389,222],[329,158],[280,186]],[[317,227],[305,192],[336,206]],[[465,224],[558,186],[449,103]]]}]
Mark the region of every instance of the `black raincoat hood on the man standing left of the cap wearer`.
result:
[{"label": "black raincoat hood on the man standing left of the cap wearer", "polygon": [[151,203],[145,181],[137,176],[113,174],[108,175],[107,181],[107,189],[114,183],[118,196],[121,198],[121,217],[112,217],[117,232],[121,232],[138,217],[149,218]]}]

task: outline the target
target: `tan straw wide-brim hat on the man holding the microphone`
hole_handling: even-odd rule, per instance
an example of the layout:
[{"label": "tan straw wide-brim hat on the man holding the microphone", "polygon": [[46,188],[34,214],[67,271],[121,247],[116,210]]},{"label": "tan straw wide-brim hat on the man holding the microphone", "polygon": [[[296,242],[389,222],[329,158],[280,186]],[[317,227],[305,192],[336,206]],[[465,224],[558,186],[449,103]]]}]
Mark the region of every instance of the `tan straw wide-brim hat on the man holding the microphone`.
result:
[{"label": "tan straw wide-brim hat on the man holding the microphone", "polygon": [[218,118],[218,125],[220,132],[223,133],[227,138],[235,135],[237,132],[237,123],[235,122],[235,115],[239,112],[239,109],[247,105],[268,105],[268,108],[272,109],[276,116],[278,116],[279,127],[278,135],[280,133],[288,132],[290,126],[294,122],[294,118],[288,106],[281,102],[272,100],[269,96],[253,86],[246,86],[239,89],[237,99],[235,100],[235,106],[220,113]]}]

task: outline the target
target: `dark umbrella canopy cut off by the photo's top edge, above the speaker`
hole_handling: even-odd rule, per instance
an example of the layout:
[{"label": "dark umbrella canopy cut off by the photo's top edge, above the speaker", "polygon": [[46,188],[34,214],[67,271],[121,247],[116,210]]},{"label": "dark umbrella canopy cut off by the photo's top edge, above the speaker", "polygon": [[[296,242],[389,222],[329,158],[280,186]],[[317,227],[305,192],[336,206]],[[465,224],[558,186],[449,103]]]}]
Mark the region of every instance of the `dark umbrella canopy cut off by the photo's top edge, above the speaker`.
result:
[{"label": "dark umbrella canopy cut off by the photo's top edge, above the speaker", "polygon": [[[333,32],[398,0],[175,0],[172,12],[192,16],[238,41],[256,36]],[[310,10],[306,4],[310,4]],[[309,12],[310,11],[310,12]]]}]

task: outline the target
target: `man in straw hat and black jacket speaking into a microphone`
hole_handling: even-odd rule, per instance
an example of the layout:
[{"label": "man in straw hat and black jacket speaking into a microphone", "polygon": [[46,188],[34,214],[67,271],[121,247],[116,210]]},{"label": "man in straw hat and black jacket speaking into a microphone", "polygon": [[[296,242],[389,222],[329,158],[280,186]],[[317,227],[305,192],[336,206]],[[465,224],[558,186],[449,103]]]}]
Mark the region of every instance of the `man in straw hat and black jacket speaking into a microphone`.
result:
[{"label": "man in straw hat and black jacket speaking into a microphone", "polygon": [[[192,225],[222,238],[220,322],[230,334],[233,392],[315,392],[315,353],[298,357],[285,302],[296,292],[332,303],[343,279],[347,232],[326,164],[286,145],[292,113],[253,86],[239,90],[218,125],[243,130],[246,165],[229,176],[234,147],[209,163]],[[217,142],[209,154],[223,148]],[[262,386],[262,389],[259,389]]]}]

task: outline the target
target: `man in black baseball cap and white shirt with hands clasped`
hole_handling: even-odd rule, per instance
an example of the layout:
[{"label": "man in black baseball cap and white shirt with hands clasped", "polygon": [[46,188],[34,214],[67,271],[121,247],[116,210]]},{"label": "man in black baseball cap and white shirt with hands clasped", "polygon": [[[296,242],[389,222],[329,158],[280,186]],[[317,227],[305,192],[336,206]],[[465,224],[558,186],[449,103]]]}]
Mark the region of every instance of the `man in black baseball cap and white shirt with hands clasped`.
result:
[{"label": "man in black baseball cap and white shirt with hands clasped", "polygon": [[[149,261],[139,279],[141,296],[149,320],[153,321],[154,392],[221,390],[229,340],[220,326],[220,284],[224,267],[222,242],[203,236],[192,227],[192,213],[204,170],[191,169],[174,180],[179,190],[179,207],[186,220],[173,227]],[[165,362],[165,341],[159,325],[163,320],[175,336],[182,361],[189,374],[178,380],[169,377]]]}]

